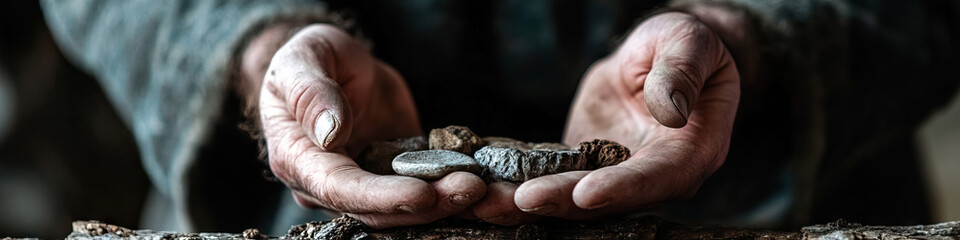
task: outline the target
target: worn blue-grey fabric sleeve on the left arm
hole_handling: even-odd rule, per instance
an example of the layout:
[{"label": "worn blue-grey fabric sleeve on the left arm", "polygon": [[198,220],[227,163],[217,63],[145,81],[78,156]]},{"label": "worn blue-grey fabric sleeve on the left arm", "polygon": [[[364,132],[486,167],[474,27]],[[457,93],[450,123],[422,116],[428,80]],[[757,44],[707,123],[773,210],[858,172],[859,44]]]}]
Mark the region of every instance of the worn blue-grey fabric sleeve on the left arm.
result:
[{"label": "worn blue-grey fabric sleeve on the left arm", "polygon": [[43,0],[61,51],[100,81],[133,131],[161,194],[182,199],[192,164],[229,91],[244,41],[278,21],[319,21],[316,1]]}]

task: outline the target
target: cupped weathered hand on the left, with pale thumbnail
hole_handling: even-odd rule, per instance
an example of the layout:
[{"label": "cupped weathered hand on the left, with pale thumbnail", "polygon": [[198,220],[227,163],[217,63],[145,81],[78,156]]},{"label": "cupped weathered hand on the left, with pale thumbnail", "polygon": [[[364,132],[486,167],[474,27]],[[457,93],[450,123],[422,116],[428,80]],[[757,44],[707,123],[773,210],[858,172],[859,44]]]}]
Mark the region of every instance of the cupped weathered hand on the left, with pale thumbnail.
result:
[{"label": "cupped weathered hand on the left, with pale thumbnail", "polygon": [[[244,66],[255,69],[246,64],[248,55]],[[261,74],[259,111],[270,168],[300,205],[345,212],[382,228],[431,222],[483,197],[486,186],[469,173],[427,183],[357,166],[351,156],[370,142],[422,131],[403,78],[345,32],[308,26]]]}]

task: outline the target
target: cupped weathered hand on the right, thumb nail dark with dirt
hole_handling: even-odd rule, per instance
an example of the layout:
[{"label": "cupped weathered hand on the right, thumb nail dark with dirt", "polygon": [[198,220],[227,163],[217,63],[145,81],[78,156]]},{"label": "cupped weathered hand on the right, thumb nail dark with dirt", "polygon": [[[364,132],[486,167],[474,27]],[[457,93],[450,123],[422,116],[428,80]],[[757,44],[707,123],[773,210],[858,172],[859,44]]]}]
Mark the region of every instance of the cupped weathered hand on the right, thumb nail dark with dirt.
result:
[{"label": "cupped weathered hand on the right, thumb nail dark with dirt", "polygon": [[499,224],[535,215],[588,219],[693,196],[726,158],[740,76],[707,25],[688,14],[664,13],[597,61],[578,91],[564,142],[611,139],[632,156],[616,166],[543,176],[519,187],[491,186],[476,216]]}]

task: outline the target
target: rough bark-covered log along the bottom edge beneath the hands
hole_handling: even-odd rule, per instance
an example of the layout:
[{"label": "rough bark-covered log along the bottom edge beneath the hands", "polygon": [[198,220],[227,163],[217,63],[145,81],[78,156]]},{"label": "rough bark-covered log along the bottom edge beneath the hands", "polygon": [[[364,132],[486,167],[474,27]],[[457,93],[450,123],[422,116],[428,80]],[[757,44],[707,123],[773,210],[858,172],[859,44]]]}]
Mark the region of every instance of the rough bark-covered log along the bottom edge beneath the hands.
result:
[{"label": "rough bark-covered log along the bottom edge beneath the hands", "polygon": [[332,221],[294,226],[284,236],[262,235],[256,229],[243,233],[175,233],[130,230],[96,221],[74,222],[72,240],[107,239],[957,239],[960,222],[917,226],[864,226],[837,221],[804,227],[799,232],[755,230],[723,226],[693,226],[666,222],[657,217],[615,218],[602,221],[547,219],[515,227],[459,219],[435,223],[368,229],[362,222],[341,217]]}]

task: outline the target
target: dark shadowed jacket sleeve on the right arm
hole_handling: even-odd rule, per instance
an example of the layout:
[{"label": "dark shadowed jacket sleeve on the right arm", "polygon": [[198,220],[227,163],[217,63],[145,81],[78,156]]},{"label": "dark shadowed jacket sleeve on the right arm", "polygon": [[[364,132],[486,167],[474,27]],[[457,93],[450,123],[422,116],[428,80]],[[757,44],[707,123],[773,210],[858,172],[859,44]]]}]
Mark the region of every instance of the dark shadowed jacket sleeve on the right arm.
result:
[{"label": "dark shadowed jacket sleeve on the right arm", "polygon": [[[734,142],[724,167],[758,169],[787,160],[784,166],[796,176],[794,223],[838,216],[872,221],[929,218],[922,207],[924,194],[916,190],[922,189],[922,176],[913,138],[920,124],[958,90],[960,81],[950,71],[960,64],[956,45],[960,3],[674,0],[671,4],[680,9],[713,4],[742,11],[754,25],[758,40],[749,47],[759,49],[762,69],[757,81],[742,82]],[[740,164],[750,157],[763,160]],[[883,175],[890,172],[900,175],[896,179]],[[871,202],[867,199],[885,202],[858,204]],[[876,211],[882,204],[916,208]],[[864,213],[871,208],[890,216]]]}]

